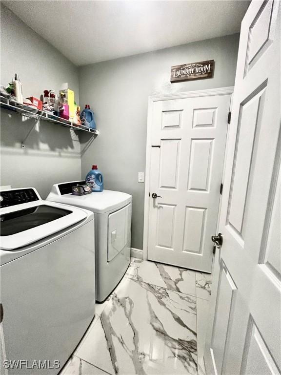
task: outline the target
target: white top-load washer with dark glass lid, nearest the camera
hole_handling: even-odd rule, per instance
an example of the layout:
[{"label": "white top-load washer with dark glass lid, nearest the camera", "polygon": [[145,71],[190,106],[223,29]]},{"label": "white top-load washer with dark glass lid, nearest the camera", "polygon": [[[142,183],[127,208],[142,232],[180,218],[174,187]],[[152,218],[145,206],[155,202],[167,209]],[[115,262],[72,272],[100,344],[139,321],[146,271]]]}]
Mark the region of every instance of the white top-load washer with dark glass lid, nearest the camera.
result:
[{"label": "white top-load washer with dark glass lid, nearest the camera", "polygon": [[0,374],[58,374],[95,315],[94,215],[34,188],[0,206]]}]

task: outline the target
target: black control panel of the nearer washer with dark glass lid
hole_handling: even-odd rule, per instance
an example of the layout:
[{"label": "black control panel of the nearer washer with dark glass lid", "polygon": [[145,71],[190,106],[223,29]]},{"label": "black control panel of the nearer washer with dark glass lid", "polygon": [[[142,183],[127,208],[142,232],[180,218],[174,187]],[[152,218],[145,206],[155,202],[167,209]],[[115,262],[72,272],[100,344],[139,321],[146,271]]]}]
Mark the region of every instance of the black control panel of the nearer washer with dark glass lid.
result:
[{"label": "black control panel of the nearer washer with dark glass lid", "polygon": [[0,191],[1,208],[39,201],[39,199],[40,198],[32,188]]}]

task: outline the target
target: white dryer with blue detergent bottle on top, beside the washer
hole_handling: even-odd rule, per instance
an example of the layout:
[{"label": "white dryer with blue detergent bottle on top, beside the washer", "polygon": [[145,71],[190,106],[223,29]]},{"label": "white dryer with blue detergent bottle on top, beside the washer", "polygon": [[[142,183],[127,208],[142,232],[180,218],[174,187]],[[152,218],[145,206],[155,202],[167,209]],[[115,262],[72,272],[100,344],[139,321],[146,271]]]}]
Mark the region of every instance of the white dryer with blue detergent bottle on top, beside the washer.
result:
[{"label": "white dryer with blue detergent bottle on top, beside the washer", "polygon": [[53,185],[47,200],[94,212],[96,299],[102,302],[117,286],[130,264],[132,196],[112,190],[72,195],[72,187],[77,184],[85,184],[85,181]]}]

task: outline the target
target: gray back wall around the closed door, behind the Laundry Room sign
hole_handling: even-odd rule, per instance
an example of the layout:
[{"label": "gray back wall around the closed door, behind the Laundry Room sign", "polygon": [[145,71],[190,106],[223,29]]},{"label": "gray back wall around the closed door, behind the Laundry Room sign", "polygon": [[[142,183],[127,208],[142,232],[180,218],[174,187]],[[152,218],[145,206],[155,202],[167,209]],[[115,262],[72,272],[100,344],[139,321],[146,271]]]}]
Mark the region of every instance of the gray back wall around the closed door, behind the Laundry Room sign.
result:
[{"label": "gray back wall around the closed door, behind the Laundry Room sign", "polygon": [[[105,188],[133,195],[133,248],[142,249],[144,184],[138,172],[145,170],[148,96],[234,85],[238,44],[235,34],[80,67],[80,105],[91,105],[100,129],[81,156],[82,177],[97,164]],[[213,79],[170,83],[172,65],[212,59]]]}]

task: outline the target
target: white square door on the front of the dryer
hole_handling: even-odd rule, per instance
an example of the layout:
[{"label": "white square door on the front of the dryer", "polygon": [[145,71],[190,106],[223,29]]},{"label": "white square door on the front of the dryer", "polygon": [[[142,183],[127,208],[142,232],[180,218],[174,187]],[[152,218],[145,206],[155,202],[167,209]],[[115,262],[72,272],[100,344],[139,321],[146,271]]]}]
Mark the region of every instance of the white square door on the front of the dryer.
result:
[{"label": "white square door on the front of the dryer", "polygon": [[130,234],[128,226],[130,225],[131,203],[108,215],[108,262],[126,247],[130,240],[128,238]]}]

